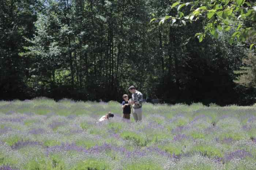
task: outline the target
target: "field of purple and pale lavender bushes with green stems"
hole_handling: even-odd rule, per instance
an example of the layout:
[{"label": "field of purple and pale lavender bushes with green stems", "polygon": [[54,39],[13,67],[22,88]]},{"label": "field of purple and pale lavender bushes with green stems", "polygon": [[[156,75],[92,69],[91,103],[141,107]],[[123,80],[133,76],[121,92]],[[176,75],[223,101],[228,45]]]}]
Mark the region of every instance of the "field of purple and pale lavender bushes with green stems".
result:
[{"label": "field of purple and pale lavender bushes with green stems", "polygon": [[145,103],[141,123],[121,113],[117,102],[1,101],[0,170],[256,169],[256,107]]}]

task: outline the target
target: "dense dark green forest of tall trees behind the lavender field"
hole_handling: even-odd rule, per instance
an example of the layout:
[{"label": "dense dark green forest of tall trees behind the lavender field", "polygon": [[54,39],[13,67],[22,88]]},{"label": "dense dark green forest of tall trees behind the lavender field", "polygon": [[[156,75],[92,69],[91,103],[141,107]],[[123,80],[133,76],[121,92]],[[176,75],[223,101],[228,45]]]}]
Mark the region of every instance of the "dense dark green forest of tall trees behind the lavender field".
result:
[{"label": "dense dark green forest of tall trees behind the lavender field", "polygon": [[[176,7],[182,3],[172,7],[174,3],[3,0],[1,99],[47,96],[120,101],[128,86],[135,85],[145,98],[166,103],[254,102],[255,89],[234,82],[234,71],[246,67],[243,61],[249,48],[238,38],[229,43],[237,29],[216,30],[219,39],[214,39],[204,33],[206,21],[199,16],[195,24],[165,17],[176,17]],[[179,18],[189,13],[188,6],[180,6],[185,11],[184,16],[178,12]],[[167,23],[165,19],[172,22],[159,26],[159,21]],[[242,29],[243,25],[240,34]],[[203,33],[201,43],[195,38],[198,32]]]}]

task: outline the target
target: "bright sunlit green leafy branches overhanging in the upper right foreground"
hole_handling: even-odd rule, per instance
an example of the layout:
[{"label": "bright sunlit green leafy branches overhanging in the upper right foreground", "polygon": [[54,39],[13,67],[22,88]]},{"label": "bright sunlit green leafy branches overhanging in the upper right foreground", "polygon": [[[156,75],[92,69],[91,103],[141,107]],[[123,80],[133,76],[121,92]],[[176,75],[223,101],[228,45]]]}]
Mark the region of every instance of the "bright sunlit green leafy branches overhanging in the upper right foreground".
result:
[{"label": "bright sunlit green leafy branches overhanging in the upper right foreground", "polygon": [[[189,8],[189,13],[181,12],[182,8]],[[172,4],[172,8],[177,8],[177,14],[174,16],[165,16],[159,21],[159,24],[165,20],[171,23],[180,21],[186,22],[203,21],[204,32],[195,34],[199,42],[210,32],[215,38],[218,38],[218,31],[229,31],[231,27],[236,32],[230,38],[230,43],[237,39],[246,42],[249,37],[256,36],[256,3],[252,0],[196,0],[187,3],[177,1]],[[152,19],[151,21],[156,20]],[[256,44],[251,42],[250,48]]]}]

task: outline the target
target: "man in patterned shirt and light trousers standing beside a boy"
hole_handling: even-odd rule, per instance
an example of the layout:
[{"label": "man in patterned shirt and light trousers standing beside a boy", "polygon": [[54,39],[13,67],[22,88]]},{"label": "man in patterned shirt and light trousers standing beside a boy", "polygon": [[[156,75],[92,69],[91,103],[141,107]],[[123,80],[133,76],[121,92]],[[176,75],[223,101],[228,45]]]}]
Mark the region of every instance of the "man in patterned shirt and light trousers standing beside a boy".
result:
[{"label": "man in patterned shirt and light trousers standing beside a boy", "polygon": [[130,101],[129,103],[132,104],[133,118],[136,122],[141,121],[142,120],[142,102],[143,102],[142,93],[136,90],[134,86],[130,86],[128,90],[130,93],[132,93],[132,101]]}]

